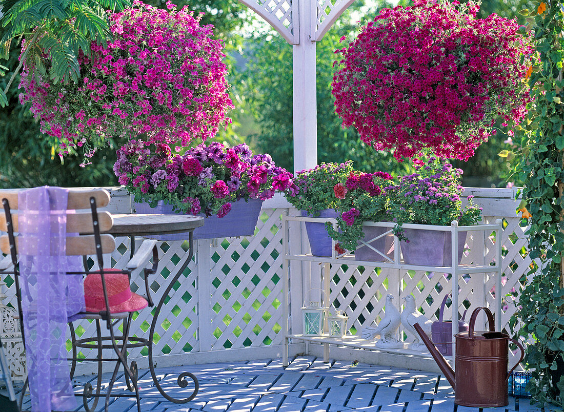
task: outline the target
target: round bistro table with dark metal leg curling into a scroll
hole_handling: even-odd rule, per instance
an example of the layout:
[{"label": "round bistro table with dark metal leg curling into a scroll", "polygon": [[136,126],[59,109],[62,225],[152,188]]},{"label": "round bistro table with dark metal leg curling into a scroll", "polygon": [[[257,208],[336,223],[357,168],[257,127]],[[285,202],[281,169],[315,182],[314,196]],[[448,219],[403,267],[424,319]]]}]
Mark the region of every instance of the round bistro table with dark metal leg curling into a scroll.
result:
[{"label": "round bistro table with dark metal leg curling into a scroll", "polygon": [[184,372],[178,376],[177,383],[181,388],[186,388],[188,382],[187,377],[190,377],[195,385],[194,391],[191,396],[187,398],[177,399],[173,398],[167,393],[158,383],[157,376],[155,374],[155,367],[153,366],[153,334],[155,333],[155,327],[157,326],[158,315],[160,314],[162,305],[165,302],[166,296],[169,295],[174,283],[178,280],[184,269],[188,266],[188,263],[192,260],[194,255],[194,242],[193,242],[193,231],[197,227],[204,224],[204,218],[201,216],[192,215],[148,215],[148,214],[127,214],[127,215],[117,215],[112,214],[113,217],[113,227],[108,231],[108,233],[114,236],[129,236],[131,238],[131,256],[133,256],[135,251],[135,236],[153,236],[157,234],[172,234],[172,233],[187,233],[188,234],[188,251],[184,255],[184,261],[178,268],[174,276],[166,287],[164,293],[161,296],[156,308],[155,314],[153,315],[153,321],[151,322],[151,329],[149,329],[148,338],[148,350],[149,350],[149,371],[151,371],[151,376],[153,382],[157,387],[158,391],[170,402],[175,404],[184,404],[191,401],[198,393],[199,383],[196,378],[191,373]]}]

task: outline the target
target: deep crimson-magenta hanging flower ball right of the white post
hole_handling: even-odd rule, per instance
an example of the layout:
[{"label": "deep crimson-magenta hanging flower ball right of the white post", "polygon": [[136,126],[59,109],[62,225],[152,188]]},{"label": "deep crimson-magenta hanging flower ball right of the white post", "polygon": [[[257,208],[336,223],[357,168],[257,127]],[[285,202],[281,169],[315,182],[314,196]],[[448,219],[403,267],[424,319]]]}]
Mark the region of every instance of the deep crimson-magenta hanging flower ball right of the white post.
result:
[{"label": "deep crimson-magenta hanging flower ball right of the white post", "polygon": [[398,159],[430,149],[468,160],[498,118],[518,123],[530,101],[530,36],[515,20],[476,19],[478,7],[418,0],[364,26],[336,51],[333,96],[343,127]]}]

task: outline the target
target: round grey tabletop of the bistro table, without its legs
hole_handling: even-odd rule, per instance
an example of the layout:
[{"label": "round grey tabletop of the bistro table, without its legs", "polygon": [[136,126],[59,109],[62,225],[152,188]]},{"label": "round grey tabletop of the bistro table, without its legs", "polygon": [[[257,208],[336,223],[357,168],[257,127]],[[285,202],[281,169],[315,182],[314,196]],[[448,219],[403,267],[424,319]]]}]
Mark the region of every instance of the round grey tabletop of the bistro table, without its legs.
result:
[{"label": "round grey tabletop of the bistro table, without its legs", "polygon": [[107,233],[121,236],[147,236],[192,232],[204,224],[204,218],[193,215],[112,214],[113,227]]}]

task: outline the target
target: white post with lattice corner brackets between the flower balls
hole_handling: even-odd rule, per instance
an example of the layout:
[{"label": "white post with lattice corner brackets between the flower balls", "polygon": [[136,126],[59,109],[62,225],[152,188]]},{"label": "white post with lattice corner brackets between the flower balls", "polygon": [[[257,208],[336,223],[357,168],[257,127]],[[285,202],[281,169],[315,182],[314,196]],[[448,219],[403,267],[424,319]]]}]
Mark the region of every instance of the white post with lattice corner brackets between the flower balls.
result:
[{"label": "white post with lattice corner brackets between the flower balls", "polygon": [[317,160],[315,42],[354,0],[239,0],[293,46],[294,171]]}]

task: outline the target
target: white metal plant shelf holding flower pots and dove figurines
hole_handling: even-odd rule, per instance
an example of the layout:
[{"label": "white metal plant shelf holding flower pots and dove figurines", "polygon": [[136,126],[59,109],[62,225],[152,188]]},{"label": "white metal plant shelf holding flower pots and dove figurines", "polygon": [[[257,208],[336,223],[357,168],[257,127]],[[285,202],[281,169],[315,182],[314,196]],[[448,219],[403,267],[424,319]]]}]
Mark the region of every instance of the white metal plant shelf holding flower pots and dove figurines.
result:
[{"label": "white metal plant shelf holding flower pots and dove figurines", "polygon": [[[282,218],[282,229],[283,229],[283,309],[284,309],[284,351],[283,351],[283,365],[288,365],[288,344],[289,339],[297,339],[303,340],[305,342],[313,342],[323,344],[324,346],[324,361],[329,360],[329,345],[339,345],[344,347],[354,347],[359,349],[365,350],[373,350],[373,351],[380,351],[380,352],[389,352],[395,354],[402,354],[406,356],[418,356],[418,357],[430,357],[429,352],[427,351],[412,351],[404,348],[400,349],[382,349],[376,348],[374,345],[373,340],[363,339],[358,335],[349,335],[345,336],[345,338],[333,338],[329,335],[323,336],[309,336],[309,335],[302,335],[302,334],[290,334],[289,328],[289,261],[301,261],[301,262],[315,262],[323,264],[324,267],[324,275],[323,275],[323,287],[325,296],[329,296],[329,267],[331,264],[347,264],[347,265],[357,265],[357,266],[368,266],[368,267],[380,267],[380,268],[389,268],[389,269],[396,269],[398,271],[398,276],[400,271],[408,271],[408,270],[415,270],[415,271],[425,271],[425,272],[440,272],[440,273],[450,273],[452,274],[452,280],[456,279],[456,282],[452,283],[452,319],[457,319],[459,317],[459,279],[460,275],[462,274],[473,274],[473,273],[495,273],[496,274],[496,290],[501,290],[501,242],[495,242],[496,248],[496,259],[493,264],[490,265],[479,265],[479,264],[458,264],[458,233],[459,232],[479,232],[484,231],[486,233],[493,233],[496,239],[501,238],[501,231],[502,221],[501,219],[497,219],[495,224],[481,224],[481,225],[474,225],[474,226],[460,226],[456,221],[453,221],[451,226],[437,226],[437,225],[419,225],[419,224],[404,224],[403,228],[406,229],[426,229],[426,230],[435,230],[435,231],[444,231],[444,232],[451,232],[451,265],[444,266],[444,267],[432,267],[426,265],[413,265],[413,264],[406,264],[403,262],[403,259],[400,256],[400,242],[398,237],[394,236],[394,257],[393,259],[387,257],[387,262],[375,262],[375,261],[362,261],[362,260],[355,260],[355,256],[351,255],[350,252],[346,252],[345,254],[337,254],[334,250],[335,242],[332,242],[332,256],[331,257],[321,257],[321,256],[313,256],[311,254],[290,254],[289,252],[289,221],[299,221],[299,222],[316,222],[316,223],[325,223],[327,221],[333,224],[333,227],[336,226],[336,219],[321,219],[321,218],[307,218],[303,216],[288,216],[283,215]],[[364,225],[368,226],[375,226],[375,227],[384,227],[387,228],[385,233],[377,236],[371,240],[367,240],[364,243],[366,247],[370,247],[374,250],[373,247],[368,245],[372,241],[387,236],[389,233],[393,233],[394,223],[391,222],[365,222]],[[485,246],[484,246],[485,248]],[[484,250],[485,252],[485,250]],[[501,330],[501,294],[496,293],[495,296],[496,300],[496,308],[495,308],[495,322],[496,322],[496,330]],[[303,301],[303,295],[302,295]],[[327,324],[327,321],[326,321]],[[458,322],[453,322],[453,331],[452,334],[455,335],[458,333]],[[453,352],[455,352],[454,344],[453,344]]]}]

